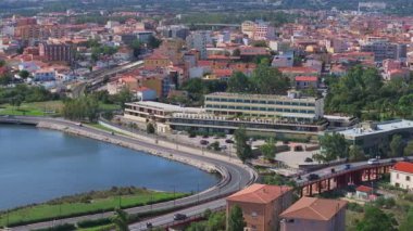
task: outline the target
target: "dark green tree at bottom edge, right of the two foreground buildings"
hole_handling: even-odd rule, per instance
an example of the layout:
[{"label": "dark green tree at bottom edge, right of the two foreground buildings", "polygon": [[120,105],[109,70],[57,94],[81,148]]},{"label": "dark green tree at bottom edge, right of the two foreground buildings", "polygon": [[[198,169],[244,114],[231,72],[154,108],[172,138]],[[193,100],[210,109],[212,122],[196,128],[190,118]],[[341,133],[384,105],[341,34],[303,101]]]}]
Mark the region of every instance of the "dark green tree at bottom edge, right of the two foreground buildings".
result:
[{"label": "dark green tree at bottom edge, right of the two foreground buildings", "polygon": [[375,206],[365,206],[364,217],[356,223],[358,231],[396,231],[397,221],[392,215],[387,215]]}]

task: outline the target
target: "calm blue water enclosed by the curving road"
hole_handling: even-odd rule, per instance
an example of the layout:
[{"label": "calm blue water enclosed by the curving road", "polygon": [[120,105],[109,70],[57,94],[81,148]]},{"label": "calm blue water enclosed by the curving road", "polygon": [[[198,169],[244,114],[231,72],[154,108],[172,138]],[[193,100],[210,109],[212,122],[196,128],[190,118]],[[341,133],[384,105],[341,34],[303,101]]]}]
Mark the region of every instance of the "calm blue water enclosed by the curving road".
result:
[{"label": "calm blue water enclosed by the curving road", "polygon": [[113,144],[0,125],[0,210],[113,185],[197,192],[217,181],[192,166]]}]

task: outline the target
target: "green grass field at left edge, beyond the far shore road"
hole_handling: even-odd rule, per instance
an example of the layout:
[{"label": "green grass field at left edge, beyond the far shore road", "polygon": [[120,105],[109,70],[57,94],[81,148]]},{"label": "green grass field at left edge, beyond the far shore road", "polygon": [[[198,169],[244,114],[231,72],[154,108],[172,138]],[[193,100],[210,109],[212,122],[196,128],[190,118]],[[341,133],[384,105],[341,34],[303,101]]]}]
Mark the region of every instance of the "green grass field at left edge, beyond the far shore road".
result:
[{"label": "green grass field at left edge, beyond the far shore road", "polygon": [[62,108],[62,101],[22,103],[18,107],[1,104],[0,115],[57,116],[61,114]]}]

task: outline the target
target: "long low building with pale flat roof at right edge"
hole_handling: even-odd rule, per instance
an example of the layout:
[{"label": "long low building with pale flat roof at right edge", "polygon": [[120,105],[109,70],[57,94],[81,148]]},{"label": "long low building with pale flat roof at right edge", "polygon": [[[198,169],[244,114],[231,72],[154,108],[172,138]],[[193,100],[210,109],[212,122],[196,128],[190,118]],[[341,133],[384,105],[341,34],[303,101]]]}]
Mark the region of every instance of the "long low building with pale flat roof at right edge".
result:
[{"label": "long low building with pale flat roof at right edge", "polygon": [[351,145],[359,145],[367,154],[378,154],[379,147],[388,147],[393,134],[413,137],[413,121],[397,119],[384,123],[366,121],[353,128],[337,129],[333,132],[345,136]]}]

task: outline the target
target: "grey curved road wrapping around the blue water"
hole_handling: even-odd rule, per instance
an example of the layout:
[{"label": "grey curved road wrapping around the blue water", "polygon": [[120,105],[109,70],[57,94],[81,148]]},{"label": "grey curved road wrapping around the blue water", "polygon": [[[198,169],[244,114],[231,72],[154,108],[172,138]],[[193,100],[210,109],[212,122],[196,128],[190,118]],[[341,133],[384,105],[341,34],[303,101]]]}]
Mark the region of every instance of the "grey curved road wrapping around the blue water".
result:
[{"label": "grey curved road wrapping around the blue water", "polygon": [[[200,205],[201,203],[205,203],[205,202],[210,202],[210,203],[205,203],[201,206],[202,211],[206,208],[214,209],[216,207],[225,205],[225,200],[220,200],[221,197],[231,194],[234,192],[237,192],[238,190],[253,183],[256,180],[256,172],[254,172],[250,167],[240,164],[239,161],[228,159],[227,157],[225,157],[224,159],[223,156],[220,156],[217,154],[202,155],[202,154],[196,154],[196,151],[195,153],[183,152],[180,150],[174,149],[174,146],[176,145],[174,143],[171,143],[171,147],[166,145],[160,146],[159,144],[155,144],[154,142],[150,143],[148,141],[138,140],[138,139],[124,137],[124,136],[117,136],[117,134],[112,136],[110,132],[97,130],[97,129],[85,127],[85,126],[80,127],[73,121],[68,121],[64,119],[15,116],[15,117],[0,117],[0,123],[1,121],[2,123],[20,121],[20,123],[27,123],[27,124],[38,124],[40,121],[51,123],[54,125],[71,128],[73,130],[86,131],[93,134],[98,134],[107,139],[116,139],[121,143],[126,143],[126,144],[129,143],[129,144],[135,144],[135,145],[137,144],[141,146],[143,150],[145,149],[157,150],[159,152],[173,154],[174,156],[179,156],[183,158],[189,158],[189,159],[195,159],[197,162],[208,163],[210,165],[214,165],[223,175],[223,180],[218,184],[203,192],[200,192],[199,194],[191,195],[185,198],[179,198],[176,201],[125,209],[129,214],[145,213],[145,211],[151,211],[151,210],[158,210],[158,209],[171,209],[177,206],[190,207],[195,205]],[[57,221],[38,222],[38,223],[28,224],[28,226],[15,227],[13,228],[13,230],[39,229],[39,228],[51,227],[57,223],[75,223],[79,220],[98,219],[102,217],[109,217],[111,215],[112,213],[104,213],[104,214],[98,214],[98,215],[61,219]],[[133,228],[134,230],[136,230],[134,226]]]}]

